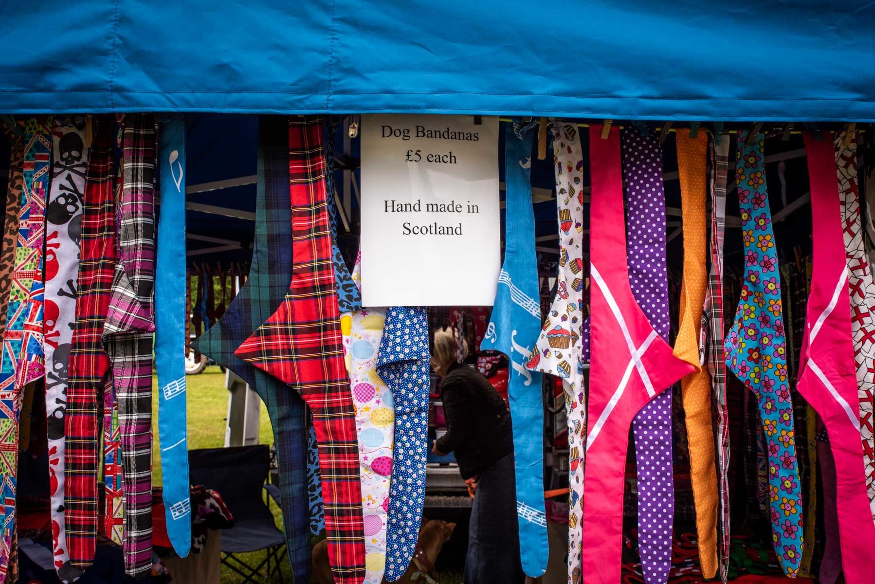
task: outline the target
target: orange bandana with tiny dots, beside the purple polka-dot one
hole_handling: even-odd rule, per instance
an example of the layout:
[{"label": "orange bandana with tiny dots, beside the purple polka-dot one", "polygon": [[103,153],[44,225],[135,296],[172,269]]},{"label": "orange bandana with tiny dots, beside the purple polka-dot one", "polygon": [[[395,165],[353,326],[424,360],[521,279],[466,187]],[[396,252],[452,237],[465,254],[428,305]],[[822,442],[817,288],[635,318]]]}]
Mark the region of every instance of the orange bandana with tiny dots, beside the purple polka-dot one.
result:
[{"label": "orange bandana with tiny dots, beside the purple polka-dot one", "polygon": [[717,472],[714,468],[714,432],[711,429],[711,372],[701,365],[702,311],[708,272],[705,268],[707,227],[705,224],[706,160],[708,136],[677,130],[677,166],[681,182],[683,214],[683,283],[680,326],[675,356],[696,368],[681,380],[683,412],[690,449],[690,481],[696,508],[699,562],[702,574],[711,579],[717,573]]}]

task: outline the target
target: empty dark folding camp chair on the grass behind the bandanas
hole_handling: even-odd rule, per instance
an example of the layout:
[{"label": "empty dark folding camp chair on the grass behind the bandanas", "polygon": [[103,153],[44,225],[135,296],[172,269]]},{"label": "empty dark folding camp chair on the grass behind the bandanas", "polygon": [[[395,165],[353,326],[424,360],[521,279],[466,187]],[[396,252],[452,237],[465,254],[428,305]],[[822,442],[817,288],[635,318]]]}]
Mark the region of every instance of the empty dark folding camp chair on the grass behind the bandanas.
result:
[{"label": "empty dark folding camp chair on the grass behind the bandanas", "polygon": [[[234,516],[234,527],[221,531],[221,562],[244,578],[244,582],[261,584],[272,581],[274,573],[283,582],[282,562],[285,536],[276,528],[270,511],[270,499],[282,510],[279,489],[267,484],[270,467],[266,445],[228,448],[201,448],[188,452],[192,484],[214,489]],[[270,497],[264,503],[262,492]],[[236,554],[266,550],[257,566],[250,566]],[[267,580],[262,569],[266,565]]]}]

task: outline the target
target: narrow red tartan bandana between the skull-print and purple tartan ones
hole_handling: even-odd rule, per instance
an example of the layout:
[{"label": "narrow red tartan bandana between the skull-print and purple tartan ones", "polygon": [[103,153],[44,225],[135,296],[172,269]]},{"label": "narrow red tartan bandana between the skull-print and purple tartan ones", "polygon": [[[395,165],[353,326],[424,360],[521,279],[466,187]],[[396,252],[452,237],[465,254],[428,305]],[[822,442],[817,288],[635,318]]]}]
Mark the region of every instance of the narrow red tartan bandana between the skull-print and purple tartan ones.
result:
[{"label": "narrow red tartan bandana between the skull-print and purple tartan ones", "polygon": [[109,369],[102,332],[116,264],[113,201],[113,130],[110,116],[92,118],[82,207],[76,322],[70,351],[64,429],[66,543],[70,566],[84,570],[95,558],[97,533],[97,395]]}]

